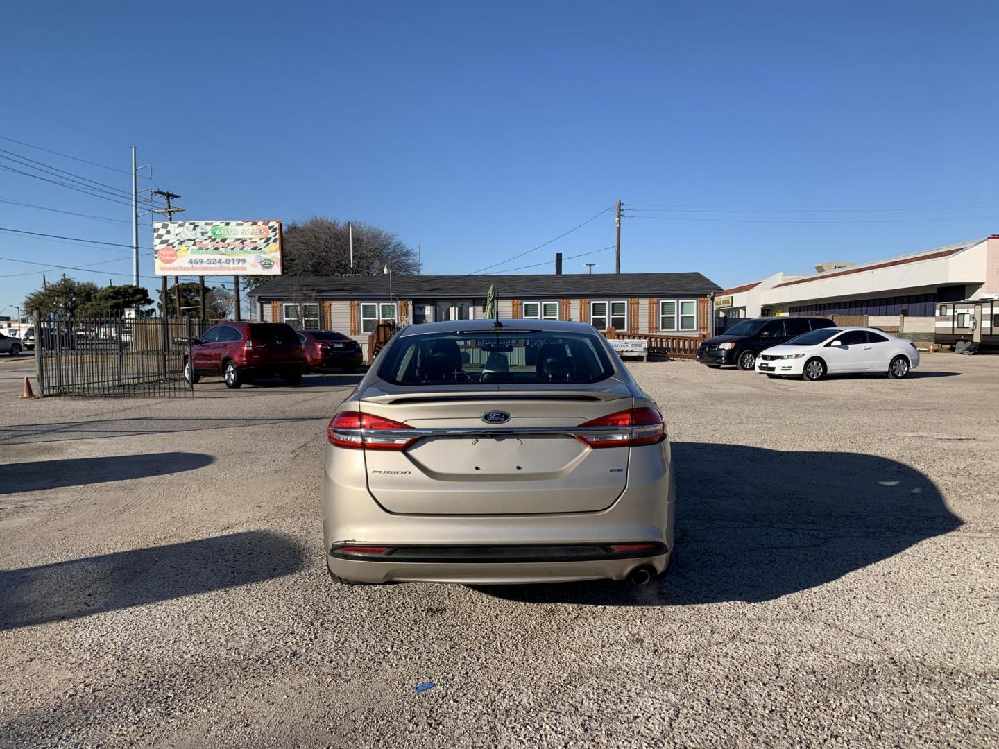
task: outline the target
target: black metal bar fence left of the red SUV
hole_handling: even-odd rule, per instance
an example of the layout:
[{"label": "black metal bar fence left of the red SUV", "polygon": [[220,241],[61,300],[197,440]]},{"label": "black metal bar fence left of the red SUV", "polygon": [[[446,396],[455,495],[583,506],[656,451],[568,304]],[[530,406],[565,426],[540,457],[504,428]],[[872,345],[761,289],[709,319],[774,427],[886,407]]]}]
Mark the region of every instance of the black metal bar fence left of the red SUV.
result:
[{"label": "black metal bar fence left of the red SUV", "polygon": [[42,395],[193,394],[184,377],[192,321],[171,318],[35,317]]}]

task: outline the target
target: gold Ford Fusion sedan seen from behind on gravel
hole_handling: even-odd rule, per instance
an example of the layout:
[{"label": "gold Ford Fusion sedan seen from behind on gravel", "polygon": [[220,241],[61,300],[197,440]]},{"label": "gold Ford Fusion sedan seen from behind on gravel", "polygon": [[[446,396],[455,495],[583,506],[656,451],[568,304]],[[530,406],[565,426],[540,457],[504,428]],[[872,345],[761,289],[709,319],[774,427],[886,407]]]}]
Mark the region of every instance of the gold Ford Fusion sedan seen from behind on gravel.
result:
[{"label": "gold Ford Fusion sedan seen from behind on gravel", "polygon": [[662,414],[589,326],[405,328],[328,436],[338,582],[645,583],[669,564]]}]

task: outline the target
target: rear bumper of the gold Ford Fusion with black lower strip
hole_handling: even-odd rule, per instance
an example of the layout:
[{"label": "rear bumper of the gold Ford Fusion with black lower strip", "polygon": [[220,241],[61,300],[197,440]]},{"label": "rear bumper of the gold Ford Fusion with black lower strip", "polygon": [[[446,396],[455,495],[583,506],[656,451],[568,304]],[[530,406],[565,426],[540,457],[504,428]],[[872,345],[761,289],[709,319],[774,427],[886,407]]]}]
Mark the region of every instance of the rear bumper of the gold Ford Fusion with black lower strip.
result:
[{"label": "rear bumper of the gold Ford Fusion with black lower strip", "polygon": [[[610,506],[590,512],[399,514],[386,511],[369,492],[363,451],[330,446],[325,472],[323,527],[327,563],[334,574],[351,580],[619,580],[639,566],[651,565],[661,571],[673,547],[675,488],[668,442],[632,448],[626,488]],[[637,555],[593,551],[593,547],[624,543],[661,545]],[[336,549],[346,544],[418,547],[423,558],[398,552],[381,560],[344,558],[346,555],[338,554]],[[531,547],[540,553],[518,559],[516,553],[524,552],[498,555],[497,547]],[[557,551],[551,551],[554,547],[561,547],[563,552],[566,547],[575,549],[559,556]]]}]

